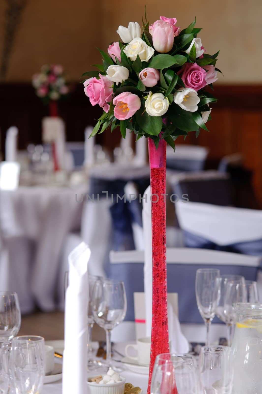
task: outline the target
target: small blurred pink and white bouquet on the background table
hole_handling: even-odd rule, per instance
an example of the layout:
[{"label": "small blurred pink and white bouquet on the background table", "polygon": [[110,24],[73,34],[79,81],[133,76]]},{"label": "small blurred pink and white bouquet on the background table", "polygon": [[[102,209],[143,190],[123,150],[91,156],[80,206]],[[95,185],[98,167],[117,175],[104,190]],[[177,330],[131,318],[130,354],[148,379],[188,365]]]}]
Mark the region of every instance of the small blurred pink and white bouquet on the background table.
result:
[{"label": "small blurred pink and white bouquet on the background table", "polygon": [[60,100],[69,93],[63,67],[59,64],[43,65],[41,72],[33,75],[32,84],[37,96],[41,97],[45,104]]}]

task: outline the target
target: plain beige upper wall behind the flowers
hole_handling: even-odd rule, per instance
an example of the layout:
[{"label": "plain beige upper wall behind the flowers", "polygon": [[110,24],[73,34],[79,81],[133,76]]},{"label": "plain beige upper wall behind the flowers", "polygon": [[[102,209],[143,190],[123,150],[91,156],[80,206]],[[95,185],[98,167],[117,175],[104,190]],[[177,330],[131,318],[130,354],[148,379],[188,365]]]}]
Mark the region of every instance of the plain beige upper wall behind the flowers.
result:
[{"label": "plain beige upper wall behind the flowers", "polygon": [[[208,53],[220,49],[220,83],[262,82],[261,0],[147,0],[150,22],[176,17],[182,28],[197,16]],[[5,2],[0,2],[0,22]],[[119,24],[141,22],[140,0],[28,0],[10,59],[7,81],[29,81],[44,63],[61,63],[72,80],[100,62],[95,46],[106,50],[117,40]],[[3,24],[0,23],[0,45]]]}]

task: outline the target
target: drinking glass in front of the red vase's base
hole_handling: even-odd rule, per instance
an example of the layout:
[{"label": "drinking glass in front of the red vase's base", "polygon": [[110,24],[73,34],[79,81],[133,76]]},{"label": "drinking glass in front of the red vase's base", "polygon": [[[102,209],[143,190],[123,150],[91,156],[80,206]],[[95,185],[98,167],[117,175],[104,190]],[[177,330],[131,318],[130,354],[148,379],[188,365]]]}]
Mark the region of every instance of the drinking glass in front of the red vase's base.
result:
[{"label": "drinking glass in front of the red vase's base", "polygon": [[151,394],[200,394],[197,365],[192,355],[158,355],[151,380]]}]

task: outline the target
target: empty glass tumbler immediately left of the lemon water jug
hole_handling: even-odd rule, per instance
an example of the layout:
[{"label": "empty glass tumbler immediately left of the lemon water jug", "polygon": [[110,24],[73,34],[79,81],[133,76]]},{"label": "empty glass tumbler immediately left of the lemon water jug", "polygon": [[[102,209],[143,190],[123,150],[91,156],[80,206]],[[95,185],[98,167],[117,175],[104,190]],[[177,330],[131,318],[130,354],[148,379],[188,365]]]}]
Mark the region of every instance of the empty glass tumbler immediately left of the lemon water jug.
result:
[{"label": "empty glass tumbler immediately left of the lemon water jug", "polygon": [[229,346],[203,346],[199,355],[199,376],[204,394],[231,394],[233,351]]}]

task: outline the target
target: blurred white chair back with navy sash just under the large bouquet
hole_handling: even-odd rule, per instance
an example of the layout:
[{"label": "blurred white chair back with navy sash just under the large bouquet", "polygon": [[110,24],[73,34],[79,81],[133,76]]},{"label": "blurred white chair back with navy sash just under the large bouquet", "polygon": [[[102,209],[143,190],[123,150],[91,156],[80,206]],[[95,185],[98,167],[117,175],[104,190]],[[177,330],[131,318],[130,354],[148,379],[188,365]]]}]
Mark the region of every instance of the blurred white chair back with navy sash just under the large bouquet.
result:
[{"label": "blurred white chair back with navy sash just under the large bouquet", "polygon": [[208,149],[197,145],[175,145],[166,148],[166,167],[177,171],[201,171],[205,167]]}]

